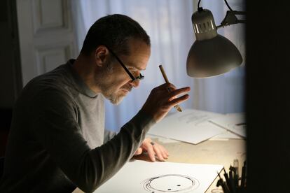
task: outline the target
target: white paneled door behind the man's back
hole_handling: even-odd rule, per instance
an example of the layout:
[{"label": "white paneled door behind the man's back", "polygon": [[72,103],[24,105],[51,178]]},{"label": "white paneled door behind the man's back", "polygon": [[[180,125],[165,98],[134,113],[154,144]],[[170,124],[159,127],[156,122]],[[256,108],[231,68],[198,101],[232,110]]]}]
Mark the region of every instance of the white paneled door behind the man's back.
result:
[{"label": "white paneled door behind the man's back", "polygon": [[17,12],[23,85],[76,57],[69,0],[17,0]]}]

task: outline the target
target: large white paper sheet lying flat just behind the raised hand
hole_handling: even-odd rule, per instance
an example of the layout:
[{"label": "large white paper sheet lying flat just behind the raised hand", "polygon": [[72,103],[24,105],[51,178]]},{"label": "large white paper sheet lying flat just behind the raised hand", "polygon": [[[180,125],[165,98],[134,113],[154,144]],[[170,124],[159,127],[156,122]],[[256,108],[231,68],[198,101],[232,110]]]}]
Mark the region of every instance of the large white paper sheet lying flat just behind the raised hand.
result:
[{"label": "large white paper sheet lying flat just behind the raised hand", "polygon": [[225,129],[208,122],[209,119],[221,116],[225,115],[185,109],[165,117],[149,130],[149,134],[197,144],[225,132]]}]

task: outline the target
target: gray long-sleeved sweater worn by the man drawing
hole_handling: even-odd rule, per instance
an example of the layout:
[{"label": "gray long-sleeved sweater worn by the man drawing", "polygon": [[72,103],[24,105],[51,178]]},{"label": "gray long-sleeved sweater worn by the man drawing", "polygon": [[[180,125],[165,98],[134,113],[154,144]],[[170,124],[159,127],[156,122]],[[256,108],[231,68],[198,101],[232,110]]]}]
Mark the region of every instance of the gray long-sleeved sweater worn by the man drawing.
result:
[{"label": "gray long-sleeved sweater worn by the man drawing", "polygon": [[73,63],[34,78],[22,90],[0,192],[71,192],[76,187],[93,192],[134,155],[155,123],[139,111],[115,136],[104,130],[104,98],[85,85]]}]

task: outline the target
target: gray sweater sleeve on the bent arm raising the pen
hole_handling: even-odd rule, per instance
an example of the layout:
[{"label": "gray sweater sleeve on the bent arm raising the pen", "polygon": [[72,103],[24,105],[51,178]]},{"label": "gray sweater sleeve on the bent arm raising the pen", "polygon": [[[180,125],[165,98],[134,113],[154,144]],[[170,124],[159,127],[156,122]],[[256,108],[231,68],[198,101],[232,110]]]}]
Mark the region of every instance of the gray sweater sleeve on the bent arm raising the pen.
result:
[{"label": "gray sweater sleeve on the bent arm raising the pen", "polygon": [[77,187],[93,192],[134,155],[155,121],[139,111],[111,140],[91,149],[68,99],[63,93],[41,92],[30,110],[32,134]]}]

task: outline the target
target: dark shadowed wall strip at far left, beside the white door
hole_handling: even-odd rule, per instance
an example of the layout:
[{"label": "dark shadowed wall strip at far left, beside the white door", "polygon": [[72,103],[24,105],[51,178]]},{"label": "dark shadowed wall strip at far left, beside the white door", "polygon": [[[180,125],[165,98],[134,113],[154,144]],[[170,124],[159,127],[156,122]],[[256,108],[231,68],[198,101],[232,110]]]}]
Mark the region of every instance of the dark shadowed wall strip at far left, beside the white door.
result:
[{"label": "dark shadowed wall strip at far left, beside the white door", "polygon": [[12,108],[22,88],[15,1],[0,1],[0,157],[4,155]]}]

